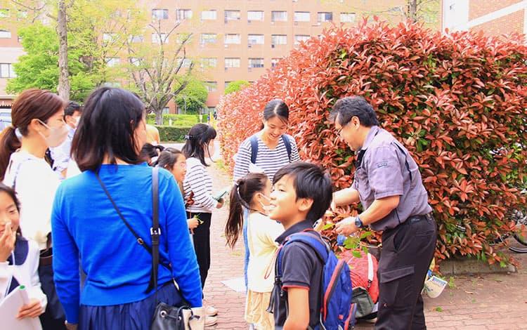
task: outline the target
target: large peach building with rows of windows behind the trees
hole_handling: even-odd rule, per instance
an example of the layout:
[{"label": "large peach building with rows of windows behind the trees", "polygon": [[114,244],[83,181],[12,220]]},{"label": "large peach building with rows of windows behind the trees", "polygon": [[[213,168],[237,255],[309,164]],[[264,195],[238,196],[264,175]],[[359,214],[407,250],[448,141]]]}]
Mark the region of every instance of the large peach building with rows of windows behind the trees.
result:
[{"label": "large peach building with rows of windows behind the trees", "polygon": [[[356,25],[363,15],[379,15],[392,23],[405,19],[405,0],[157,0],[141,1],[167,30],[192,32],[187,54],[202,68],[209,88],[208,107],[215,107],[230,81],[256,81],[301,41],[331,25]],[[145,42],[153,42],[143,36]],[[22,53],[15,31],[0,31],[1,100],[11,64]],[[5,72],[4,72],[5,70]],[[11,70],[11,71],[10,71]],[[4,75],[5,73],[5,75]],[[167,112],[175,112],[174,103]]]}]

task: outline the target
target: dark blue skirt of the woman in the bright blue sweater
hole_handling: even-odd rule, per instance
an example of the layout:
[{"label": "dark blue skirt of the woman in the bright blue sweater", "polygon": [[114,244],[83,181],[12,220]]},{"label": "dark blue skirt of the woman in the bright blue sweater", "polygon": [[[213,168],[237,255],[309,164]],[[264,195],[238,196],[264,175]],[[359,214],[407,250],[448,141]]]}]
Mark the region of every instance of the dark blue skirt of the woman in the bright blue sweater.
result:
[{"label": "dark blue skirt of the woman in the bright blue sweater", "polygon": [[[157,291],[157,303],[175,306],[181,304],[181,295],[173,282]],[[79,330],[148,330],[157,306],[155,295],[134,303],[122,305],[90,306],[81,305]]]}]

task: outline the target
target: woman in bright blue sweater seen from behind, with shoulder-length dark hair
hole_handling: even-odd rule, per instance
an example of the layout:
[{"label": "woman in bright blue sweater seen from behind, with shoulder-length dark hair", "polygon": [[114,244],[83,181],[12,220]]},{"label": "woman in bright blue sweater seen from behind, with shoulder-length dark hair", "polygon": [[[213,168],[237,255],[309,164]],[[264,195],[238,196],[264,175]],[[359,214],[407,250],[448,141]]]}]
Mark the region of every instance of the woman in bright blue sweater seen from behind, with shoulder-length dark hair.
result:
[{"label": "woman in bright blue sweater seen from behind, with shoulder-length dark hair", "polygon": [[[60,185],[51,219],[56,289],[70,329],[150,329],[157,304],[148,289],[152,256],[115,208],[151,246],[152,168],[139,157],[145,139],[141,100],[119,88],[91,93],[72,141],[72,157],[84,173]],[[176,182],[160,169],[160,264],[171,267],[159,267],[157,301],[180,303],[175,279],[197,308],[200,272],[186,220]],[[79,263],[86,274],[82,291]]]}]

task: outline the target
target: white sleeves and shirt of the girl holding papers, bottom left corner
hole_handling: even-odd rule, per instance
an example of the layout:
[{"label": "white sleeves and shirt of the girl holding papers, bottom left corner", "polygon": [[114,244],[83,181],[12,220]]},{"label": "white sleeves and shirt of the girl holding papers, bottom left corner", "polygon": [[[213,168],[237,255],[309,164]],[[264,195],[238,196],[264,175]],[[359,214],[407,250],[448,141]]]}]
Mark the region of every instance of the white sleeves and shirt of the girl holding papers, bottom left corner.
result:
[{"label": "white sleeves and shirt of the girl holding papers, bottom left corner", "polygon": [[[48,300],[40,287],[39,246],[31,240],[28,244],[29,251],[22,265],[8,265],[7,261],[0,263],[0,301],[4,299],[14,276],[18,284],[25,286],[27,296],[30,299],[38,299],[42,309],[45,310]],[[13,255],[14,253],[11,253],[12,258],[14,258]]]}]

